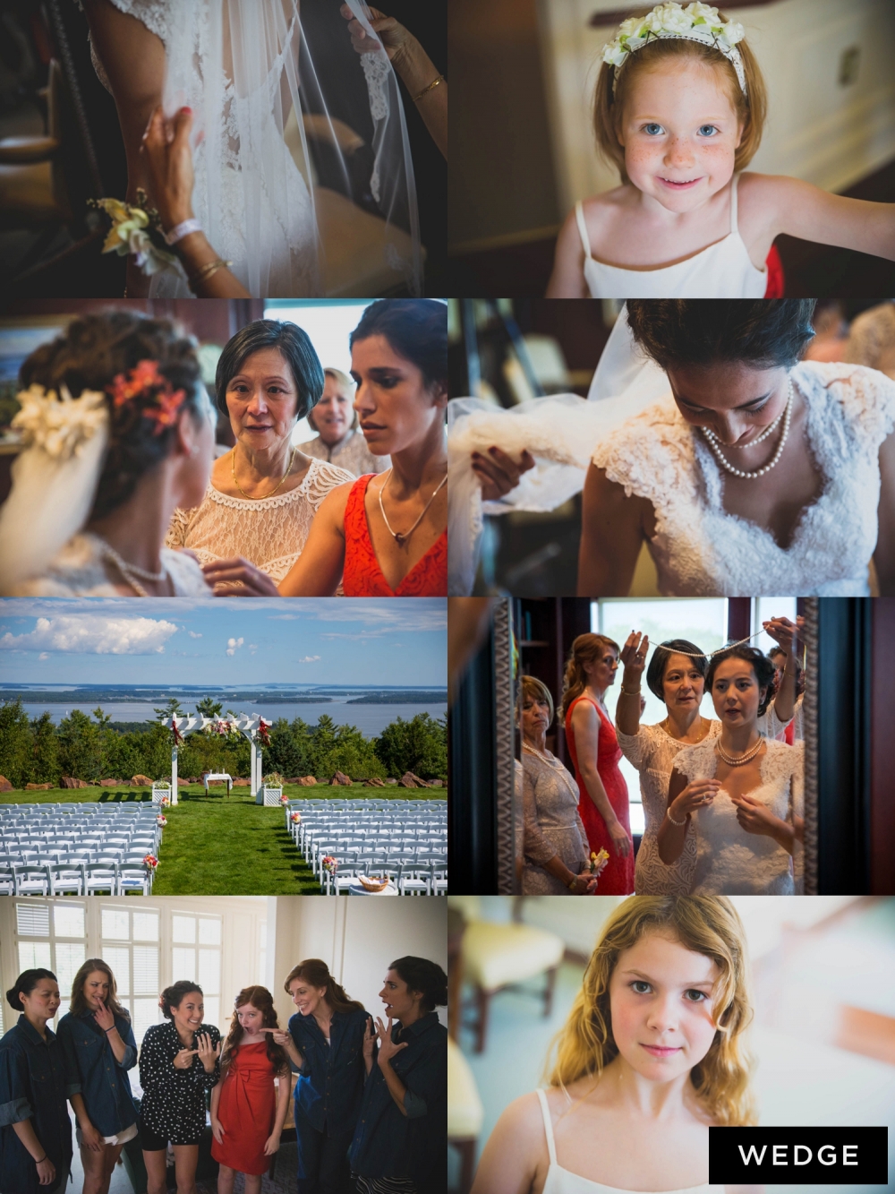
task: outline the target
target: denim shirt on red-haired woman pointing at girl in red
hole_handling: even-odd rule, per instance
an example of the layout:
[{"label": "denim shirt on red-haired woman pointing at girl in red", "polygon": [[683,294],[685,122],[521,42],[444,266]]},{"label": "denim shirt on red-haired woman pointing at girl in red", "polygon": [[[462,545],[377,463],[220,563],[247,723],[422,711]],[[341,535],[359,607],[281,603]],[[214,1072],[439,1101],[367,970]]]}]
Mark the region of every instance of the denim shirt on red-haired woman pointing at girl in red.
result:
[{"label": "denim shirt on red-haired woman pointing at girl in red", "polygon": [[353,1131],[364,1093],[366,1020],[363,1010],[334,1011],[327,1045],[314,1016],[296,1011],[290,1018],[289,1032],[304,1059],[295,1088],[296,1126],[304,1116],[317,1132],[325,1125],[331,1135]]}]

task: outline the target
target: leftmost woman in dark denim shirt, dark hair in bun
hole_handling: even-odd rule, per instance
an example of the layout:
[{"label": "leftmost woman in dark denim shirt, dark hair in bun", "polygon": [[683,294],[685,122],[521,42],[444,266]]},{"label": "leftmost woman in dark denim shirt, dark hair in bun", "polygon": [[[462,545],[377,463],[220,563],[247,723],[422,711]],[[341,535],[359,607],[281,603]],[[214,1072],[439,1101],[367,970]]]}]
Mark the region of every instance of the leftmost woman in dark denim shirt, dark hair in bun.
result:
[{"label": "leftmost woman in dark denim shirt, dark hair in bun", "polygon": [[6,992],[18,1023],[0,1038],[0,1190],[64,1192],[72,1165],[66,1059],[47,1026],[58,1011],[53,971],[23,971]]}]

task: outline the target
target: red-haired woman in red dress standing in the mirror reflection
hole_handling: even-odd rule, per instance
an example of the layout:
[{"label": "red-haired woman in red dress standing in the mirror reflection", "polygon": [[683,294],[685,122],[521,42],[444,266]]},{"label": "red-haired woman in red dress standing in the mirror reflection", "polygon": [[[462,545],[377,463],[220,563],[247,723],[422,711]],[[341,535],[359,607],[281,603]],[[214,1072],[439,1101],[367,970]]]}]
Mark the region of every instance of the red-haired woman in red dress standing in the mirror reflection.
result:
[{"label": "red-haired woman in red dress standing in the mirror reflection", "polygon": [[600,896],[628,896],[634,891],[628,784],[618,767],[622,750],[603,702],[606,689],[615,683],[618,654],[618,644],[604,634],[579,634],[572,644],[562,693],[581,820],[591,850],[609,851]]}]

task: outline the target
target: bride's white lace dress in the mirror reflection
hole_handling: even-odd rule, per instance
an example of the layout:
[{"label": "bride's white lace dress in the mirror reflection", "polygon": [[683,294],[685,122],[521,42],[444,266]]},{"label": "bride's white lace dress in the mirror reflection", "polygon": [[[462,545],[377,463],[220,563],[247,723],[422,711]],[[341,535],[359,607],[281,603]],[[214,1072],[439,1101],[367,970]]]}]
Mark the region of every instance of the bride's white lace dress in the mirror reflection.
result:
[{"label": "bride's white lace dress in the mirror reflection", "polygon": [[[761,784],[748,793],[780,820],[792,821],[792,807],[801,807],[803,744],[788,746],[767,739],[761,757]],[[693,780],[711,780],[717,767],[715,740],[686,746],[674,767]],[[721,788],[708,808],[693,813],[687,837],[696,832],[697,857],[693,896],[791,896],[790,856],[772,837],[747,833],[736,819],[736,805]]]}]

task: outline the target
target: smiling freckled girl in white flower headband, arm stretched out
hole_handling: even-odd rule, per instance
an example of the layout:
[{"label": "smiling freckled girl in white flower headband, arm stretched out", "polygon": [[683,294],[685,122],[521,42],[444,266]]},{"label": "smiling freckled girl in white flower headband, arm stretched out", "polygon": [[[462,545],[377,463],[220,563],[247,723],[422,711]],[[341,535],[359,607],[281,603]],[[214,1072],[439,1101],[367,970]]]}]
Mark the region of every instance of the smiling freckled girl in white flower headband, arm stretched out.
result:
[{"label": "smiling freckled girl in white flower headband, arm stretched out", "polygon": [[593,103],[598,147],[622,185],[566,220],[548,297],[780,297],[769,254],[782,233],[895,259],[895,204],[742,173],[765,110],[739,21],[699,2],[625,20],[604,48]]}]

